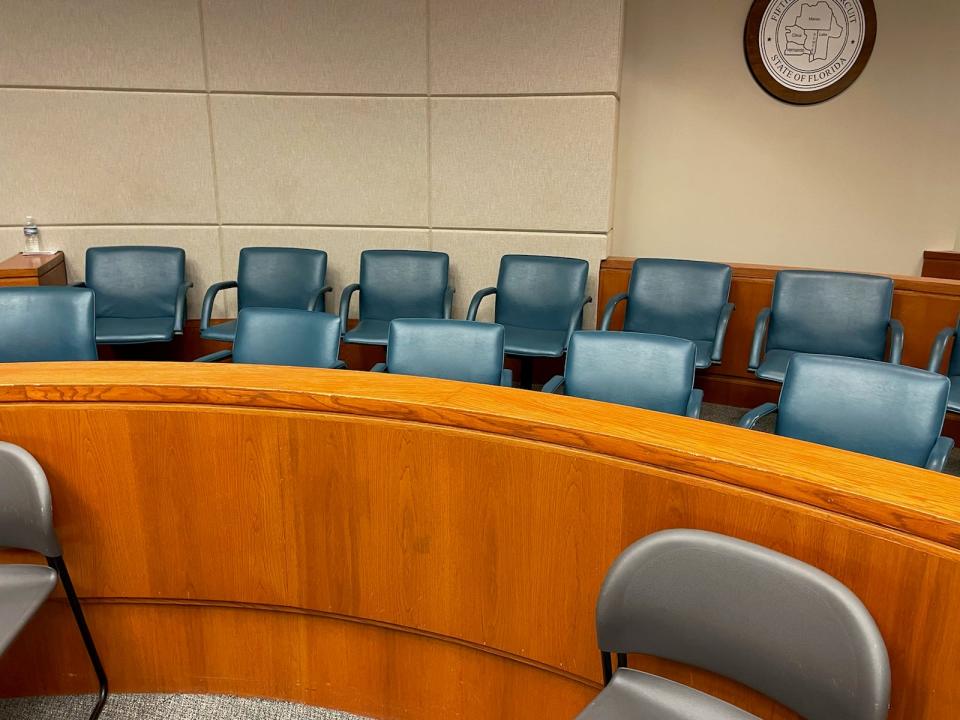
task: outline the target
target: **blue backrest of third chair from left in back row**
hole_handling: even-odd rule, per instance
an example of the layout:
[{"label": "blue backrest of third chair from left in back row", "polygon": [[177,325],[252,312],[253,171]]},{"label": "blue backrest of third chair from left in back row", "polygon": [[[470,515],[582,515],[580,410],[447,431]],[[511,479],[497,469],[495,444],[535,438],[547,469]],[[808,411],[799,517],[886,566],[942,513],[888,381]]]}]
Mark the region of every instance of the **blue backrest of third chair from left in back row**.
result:
[{"label": "blue backrest of third chair from left in back row", "polygon": [[427,250],[360,254],[360,319],[443,317],[450,258]]}]

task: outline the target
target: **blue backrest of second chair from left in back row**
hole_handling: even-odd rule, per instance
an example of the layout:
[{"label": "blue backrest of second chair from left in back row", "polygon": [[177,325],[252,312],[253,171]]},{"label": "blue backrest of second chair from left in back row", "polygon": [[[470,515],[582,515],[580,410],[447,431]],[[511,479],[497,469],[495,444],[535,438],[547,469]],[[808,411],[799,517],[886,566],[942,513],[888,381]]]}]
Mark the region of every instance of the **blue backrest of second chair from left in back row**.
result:
[{"label": "blue backrest of second chair from left in back row", "polygon": [[307,309],[327,278],[327,254],[307,248],[249,247],[240,251],[237,304]]}]

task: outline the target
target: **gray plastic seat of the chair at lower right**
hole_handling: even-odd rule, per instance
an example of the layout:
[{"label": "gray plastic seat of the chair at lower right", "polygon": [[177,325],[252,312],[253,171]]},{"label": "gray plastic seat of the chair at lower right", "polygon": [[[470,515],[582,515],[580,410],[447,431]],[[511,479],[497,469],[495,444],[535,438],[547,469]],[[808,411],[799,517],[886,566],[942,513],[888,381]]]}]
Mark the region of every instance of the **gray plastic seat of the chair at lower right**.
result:
[{"label": "gray plastic seat of the chair at lower right", "polygon": [[686,685],[620,668],[577,720],[757,720]]}]

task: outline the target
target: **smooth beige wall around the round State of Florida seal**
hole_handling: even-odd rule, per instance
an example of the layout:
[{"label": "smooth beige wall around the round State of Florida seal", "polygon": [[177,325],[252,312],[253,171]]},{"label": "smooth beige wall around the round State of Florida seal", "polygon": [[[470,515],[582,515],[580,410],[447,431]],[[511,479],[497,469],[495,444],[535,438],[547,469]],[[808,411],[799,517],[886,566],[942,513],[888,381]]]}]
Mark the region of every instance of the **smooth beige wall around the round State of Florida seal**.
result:
[{"label": "smooth beige wall around the round State of Florida seal", "polygon": [[859,80],[811,107],[743,57],[750,0],[627,0],[611,254],[913,274],[960,226],[960,2],[875,0]]}]

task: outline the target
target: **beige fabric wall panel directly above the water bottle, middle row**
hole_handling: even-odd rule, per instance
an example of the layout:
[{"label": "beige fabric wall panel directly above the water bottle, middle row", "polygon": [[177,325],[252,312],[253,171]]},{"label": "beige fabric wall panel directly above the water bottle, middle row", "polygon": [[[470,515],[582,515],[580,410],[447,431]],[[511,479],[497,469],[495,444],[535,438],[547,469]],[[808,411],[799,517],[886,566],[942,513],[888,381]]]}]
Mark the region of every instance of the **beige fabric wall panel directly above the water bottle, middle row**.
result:
[{"label": "beige fabric wall panel directly above the water bottle, middle row", "polygon": [[0,225],[216,222],[206,98],[0,90]]}]

